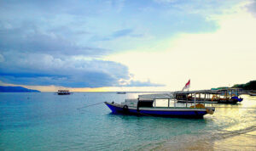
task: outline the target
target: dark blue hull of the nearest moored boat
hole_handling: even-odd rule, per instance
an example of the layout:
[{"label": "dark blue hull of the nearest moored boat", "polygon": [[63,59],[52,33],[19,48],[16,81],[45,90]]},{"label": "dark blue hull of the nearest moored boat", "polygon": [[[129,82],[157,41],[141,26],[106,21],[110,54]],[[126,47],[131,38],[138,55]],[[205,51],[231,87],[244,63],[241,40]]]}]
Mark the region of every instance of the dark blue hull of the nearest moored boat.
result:
[{"label": "dark blue hull of the nearest moored boat", "polygon": [[161,116],[161,117],[181,117],[181,118],[202,118],[207,115],[207,109],[193,108],[127,108],[117,103],[105,102],[113,114],[125,115],[145,115],[145,116]]}]

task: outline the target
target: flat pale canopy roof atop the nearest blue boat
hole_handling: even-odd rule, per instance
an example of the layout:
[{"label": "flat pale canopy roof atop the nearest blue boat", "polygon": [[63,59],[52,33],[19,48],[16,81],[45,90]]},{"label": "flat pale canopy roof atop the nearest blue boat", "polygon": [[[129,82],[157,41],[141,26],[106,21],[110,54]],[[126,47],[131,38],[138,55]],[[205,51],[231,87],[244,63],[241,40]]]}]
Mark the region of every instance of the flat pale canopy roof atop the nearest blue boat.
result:
[{"label": "flat pale canopy roof atop the nearest blue boat", "polygon": [[168,92],[168,93],[156,93],[156,94],[143,94],[139,95],[138,99],[140,101],[148,101],[148,100],[154,100],[154,99],[172,99],[173,98],[173,93]]}]

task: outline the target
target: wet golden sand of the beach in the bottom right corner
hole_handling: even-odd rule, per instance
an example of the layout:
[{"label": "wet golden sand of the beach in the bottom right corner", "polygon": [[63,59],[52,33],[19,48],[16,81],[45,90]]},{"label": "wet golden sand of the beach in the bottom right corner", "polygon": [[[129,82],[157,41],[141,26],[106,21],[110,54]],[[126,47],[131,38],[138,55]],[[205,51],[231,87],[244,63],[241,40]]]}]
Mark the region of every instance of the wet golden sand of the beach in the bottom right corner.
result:
[{"label": "wet golden sand of the beach in the bottom right corner", "polygon": [[[177,143],[179,142],[179,143]],[[212,136],[179,137],[153,145],[149,150],[256,150],[256,127],[220,131]]]}]

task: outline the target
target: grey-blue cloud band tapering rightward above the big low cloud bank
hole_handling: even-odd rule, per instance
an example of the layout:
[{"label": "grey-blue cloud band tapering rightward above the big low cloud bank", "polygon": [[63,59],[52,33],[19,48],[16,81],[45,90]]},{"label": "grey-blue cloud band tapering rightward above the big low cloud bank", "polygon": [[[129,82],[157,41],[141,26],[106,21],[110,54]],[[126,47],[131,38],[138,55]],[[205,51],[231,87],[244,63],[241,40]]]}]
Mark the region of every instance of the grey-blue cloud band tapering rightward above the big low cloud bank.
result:
[{"label": "grey-blue cloud band tapering rightward above the big low cloud bank", "polygon": [[73,39],[54,32],[43,33],[38,28],[23,25],[15,29],[0,30],[0,49],[21,52],[49,53],[54,55],[101,56],[110,52],[104,48],[80,46]]}]

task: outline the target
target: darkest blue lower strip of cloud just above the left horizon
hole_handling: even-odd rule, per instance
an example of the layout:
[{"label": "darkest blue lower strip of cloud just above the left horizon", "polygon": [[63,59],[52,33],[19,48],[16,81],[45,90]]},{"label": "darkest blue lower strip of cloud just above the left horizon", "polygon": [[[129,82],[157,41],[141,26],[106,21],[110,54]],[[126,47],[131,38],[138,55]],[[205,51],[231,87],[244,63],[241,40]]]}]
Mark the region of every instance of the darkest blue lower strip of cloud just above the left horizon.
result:
[{"label": "darkest blue lower strip of cloud just above the left horizon", "polygon": [[[2,74],[1,74],[2,75]],[[61,86],[61,87],[113,87],[118,86],[117,79],[102,72],[86,72],[83,75],[52,76],[36,74],[9,74],[0,77],[0,80],[18,85]]]}]

